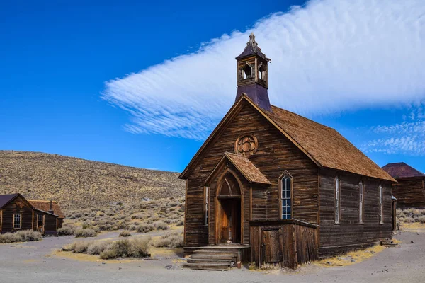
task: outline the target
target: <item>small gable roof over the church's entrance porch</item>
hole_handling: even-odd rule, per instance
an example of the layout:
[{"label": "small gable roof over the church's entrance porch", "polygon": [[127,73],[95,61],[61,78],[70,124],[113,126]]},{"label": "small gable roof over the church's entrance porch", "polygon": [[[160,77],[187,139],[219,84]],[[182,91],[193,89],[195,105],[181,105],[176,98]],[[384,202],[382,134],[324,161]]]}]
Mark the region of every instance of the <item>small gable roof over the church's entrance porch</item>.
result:
[{"label": "small gable roof over the church's entrance porch", "polygon": [[220,166],[220,164],[228,160],[230,163],[234,165],[234,167],[237,168],[237,170],[244,175],[246,180],[248,180],[249,183],[256,183],[256,184],[264,184],[264,185],[270,185],[270,181],[266,178],[266,176],[263,175],[259,171],[258,168],[254,166],[254,164],[249,161],[248,158],[245,156],[239,155],[239,154],[231,154],[229,152],[225,152],[223,154],[223,157],[218,161],[217,165],[212,169],[210,175],[205,179],[205,183],[208,183],[208,180],[215,175],[216,169]]}]

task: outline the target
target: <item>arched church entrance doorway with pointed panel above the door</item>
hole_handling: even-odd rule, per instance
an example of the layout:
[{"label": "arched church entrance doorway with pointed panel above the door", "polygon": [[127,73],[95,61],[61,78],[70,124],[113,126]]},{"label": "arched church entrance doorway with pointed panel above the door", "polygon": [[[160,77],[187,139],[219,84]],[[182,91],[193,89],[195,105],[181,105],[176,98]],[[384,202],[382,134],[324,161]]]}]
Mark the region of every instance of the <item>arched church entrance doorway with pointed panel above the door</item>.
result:
[{"label": "arched church entrance doorway with pointed panel above the door", "polygon": [[217,187],[215,242],[242,243],[242,194],[235,176],[227,172]]}]

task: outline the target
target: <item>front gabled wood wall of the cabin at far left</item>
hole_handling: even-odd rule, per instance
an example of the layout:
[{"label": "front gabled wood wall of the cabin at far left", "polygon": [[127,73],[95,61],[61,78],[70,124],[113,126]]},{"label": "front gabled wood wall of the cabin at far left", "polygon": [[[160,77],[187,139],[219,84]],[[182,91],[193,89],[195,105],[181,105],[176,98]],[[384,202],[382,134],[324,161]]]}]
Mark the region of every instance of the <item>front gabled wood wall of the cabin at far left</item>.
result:
[{"label": "front gabled wood wall of the cabin at far left", "polygon": [[[21,229],[13,228],[13,214],[21,214]],[[33,208],[23,200],[16,197],[2,209],[1,233],[33,230]]]}]

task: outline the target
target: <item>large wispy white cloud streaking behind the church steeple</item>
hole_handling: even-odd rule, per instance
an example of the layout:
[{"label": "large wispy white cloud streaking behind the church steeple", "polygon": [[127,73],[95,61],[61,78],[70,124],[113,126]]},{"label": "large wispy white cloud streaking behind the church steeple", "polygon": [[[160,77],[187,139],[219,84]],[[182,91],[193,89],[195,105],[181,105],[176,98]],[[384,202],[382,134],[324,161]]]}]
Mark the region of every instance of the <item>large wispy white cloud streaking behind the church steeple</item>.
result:
[{"label": "large wispy white cloud streaking behind the church steeple", "polygon": [[251,31],[272,59],[269,95],[282,108],[311,116],[425,96],[423,0],[323,0],[108,81],[103,98],[131,113],[130,132],[205,139],[232,105],[234,57]]}]

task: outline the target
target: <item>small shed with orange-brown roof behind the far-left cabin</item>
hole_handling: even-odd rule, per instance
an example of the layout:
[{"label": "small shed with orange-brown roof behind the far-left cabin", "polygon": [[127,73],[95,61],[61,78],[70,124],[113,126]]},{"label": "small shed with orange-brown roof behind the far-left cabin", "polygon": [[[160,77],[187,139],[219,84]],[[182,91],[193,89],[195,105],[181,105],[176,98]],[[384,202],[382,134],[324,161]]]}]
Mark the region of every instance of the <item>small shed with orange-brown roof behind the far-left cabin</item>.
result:
[{"label": "small shed with orange-brown roof behind the far-left cabin", "polygon": [[[59,204],[57,204],[57,202],[53,202],[52,200],[28,200],[28,202],[30,202],[30,204],[32,204],[33,207],[35,207],[36,209],[50,214],[44,215],[44,221],[41,221],[42,219],[40,214],[40,219],[38,221],[38,229],[42,229],[42,231],[45,231],[45,233],[47,234],[56,234],[57,229],[62,228],[65,215],[60,209],[60,206]],[[54,217],[53,215],[57,217]]]}]

